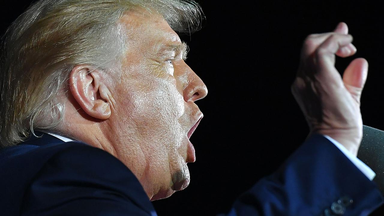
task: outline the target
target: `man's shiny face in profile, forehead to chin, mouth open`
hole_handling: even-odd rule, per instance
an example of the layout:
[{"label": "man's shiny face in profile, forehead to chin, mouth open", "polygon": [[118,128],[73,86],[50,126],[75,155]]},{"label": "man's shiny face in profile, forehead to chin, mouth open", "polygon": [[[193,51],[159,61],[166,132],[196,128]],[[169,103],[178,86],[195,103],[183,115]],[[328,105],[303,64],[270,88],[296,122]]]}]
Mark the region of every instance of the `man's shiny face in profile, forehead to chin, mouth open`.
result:
[{"label": "man's shiny face in profile, forehead to chin, mouth open", "polygon": [[194,101],[207,88],[185,64],[186,47],[160,15],[131,11],[121,23],[127,53],[111,89],[116,115],[107,136],[148,196],[166,198],[189,184],[187,163],[195,161],[189,137],[202,118]]}]

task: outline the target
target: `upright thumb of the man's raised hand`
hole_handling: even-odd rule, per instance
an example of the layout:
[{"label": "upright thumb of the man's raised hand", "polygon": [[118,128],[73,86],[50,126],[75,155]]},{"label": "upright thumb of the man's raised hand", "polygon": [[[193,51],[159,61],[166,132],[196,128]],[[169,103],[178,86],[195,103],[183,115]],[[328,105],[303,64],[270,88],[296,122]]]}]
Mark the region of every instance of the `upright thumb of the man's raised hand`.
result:
[{"label": "upright thumb of the man's raised hand", "polygon": [[360,96],[368,75],[368,62],[364,58],[356,58],[344,71],[343,82],[353,98],[360,103]]}]

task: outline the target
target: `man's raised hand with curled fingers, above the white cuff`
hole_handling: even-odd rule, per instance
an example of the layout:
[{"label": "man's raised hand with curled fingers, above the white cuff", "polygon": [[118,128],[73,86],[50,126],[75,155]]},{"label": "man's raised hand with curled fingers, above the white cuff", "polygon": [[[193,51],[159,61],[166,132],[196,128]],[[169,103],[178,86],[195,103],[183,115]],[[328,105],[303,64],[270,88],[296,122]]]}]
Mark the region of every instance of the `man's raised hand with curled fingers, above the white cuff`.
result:
[{"label": "man's raised hand with curled fingers, above the white cuff", "polygon": [[335,55],[348,57],[356,53],[351,42],[345,23],[339,23],[334,32],[309,35],[291,90],[310,134],[328,135],[357,155],[362,139],[360,96],[368,63],[364,58],[353,60],[343,77],[334,67]]}]

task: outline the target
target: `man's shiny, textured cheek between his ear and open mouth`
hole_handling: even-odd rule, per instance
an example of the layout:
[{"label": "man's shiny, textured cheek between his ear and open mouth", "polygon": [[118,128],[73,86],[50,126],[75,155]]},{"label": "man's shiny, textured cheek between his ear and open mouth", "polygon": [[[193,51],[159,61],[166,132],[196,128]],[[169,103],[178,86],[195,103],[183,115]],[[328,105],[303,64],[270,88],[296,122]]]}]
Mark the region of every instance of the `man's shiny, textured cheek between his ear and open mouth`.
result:
[{"label": "man's shiny, textured cheek between his ear and open mouth", "polygon": [[174,158],[186,136],[184,97],[175,79],[139,76],[124,82],[130,85],[120,88],[122,100],[117,100],[124,125],[134,128],[148,154]]}]

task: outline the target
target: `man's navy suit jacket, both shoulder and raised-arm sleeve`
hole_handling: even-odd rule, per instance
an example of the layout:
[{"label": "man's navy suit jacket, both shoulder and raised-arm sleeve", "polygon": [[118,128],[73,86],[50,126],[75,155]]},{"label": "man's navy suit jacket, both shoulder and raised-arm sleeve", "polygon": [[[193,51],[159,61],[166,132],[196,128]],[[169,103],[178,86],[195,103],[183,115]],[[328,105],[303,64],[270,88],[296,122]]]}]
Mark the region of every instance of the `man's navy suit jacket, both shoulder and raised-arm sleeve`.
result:
[{"label": "man's navy suit jacket, both shoulder and raised-arm sleeve", "polygon": [[[139,181],[118,159],[84,143],[40,135],[0,151],[1,215],[156,215]],[[376,185],[336,146],[313,135],[278,171],[243,194],[228,215],[310,216],[335,209],[367,215],[382,200]]]}]

